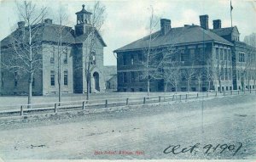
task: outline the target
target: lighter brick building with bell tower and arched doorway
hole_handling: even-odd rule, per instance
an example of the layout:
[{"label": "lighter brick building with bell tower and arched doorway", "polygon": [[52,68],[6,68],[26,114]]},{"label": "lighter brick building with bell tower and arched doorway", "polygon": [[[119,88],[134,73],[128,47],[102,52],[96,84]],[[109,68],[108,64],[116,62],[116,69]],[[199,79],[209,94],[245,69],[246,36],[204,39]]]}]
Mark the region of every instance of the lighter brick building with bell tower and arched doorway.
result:
[{"label": "lighter brick building with bell tower and arched doorway", "polygon": [[[52,20],[46,19],[37,26],[37,41],[40,47],[38,70],[35,72],[32,82],[32,93],[45,95],[58,92],[58,70],[61,67],[61,92],[86,92],[86,64],[90,64],[90,90],[91,92],[104,92],[105,80],[108,74],[103,66],[103,49],[106,43],[102,36],[96,31],[96,43],[92,50],[89,50],[92,39],[90,25],[91,13],[86,11],[83,5],[81,11],[76,13],[77,25],[72,27],[55,25]],[[60,35],[57,31],[61,28],[61,66],[58,65],[60,56]],[[10,46],[12,37],[27,32],[25,22],[18,22],[18,28],[1,41],[1,63],[7,64],[9,56],[15,54],[15,49]],[[91,57],[88,59],[89,51]],[[15,73],[1,69],[1,94],[26,94],[28,87],[27,75],[16,77]]]}]

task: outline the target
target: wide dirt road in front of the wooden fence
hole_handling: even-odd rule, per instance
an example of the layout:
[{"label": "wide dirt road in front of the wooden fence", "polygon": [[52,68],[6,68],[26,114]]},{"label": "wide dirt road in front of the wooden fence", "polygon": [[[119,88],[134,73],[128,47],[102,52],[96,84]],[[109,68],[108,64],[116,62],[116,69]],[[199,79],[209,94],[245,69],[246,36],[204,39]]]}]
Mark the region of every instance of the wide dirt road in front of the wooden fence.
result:
[{"label": "wide dirt road in front of the wooden fence", "polygon": [[[2,159],[256,159],[256,95],[0,124]],[[211,144],[211,145],[210,145]]]}]

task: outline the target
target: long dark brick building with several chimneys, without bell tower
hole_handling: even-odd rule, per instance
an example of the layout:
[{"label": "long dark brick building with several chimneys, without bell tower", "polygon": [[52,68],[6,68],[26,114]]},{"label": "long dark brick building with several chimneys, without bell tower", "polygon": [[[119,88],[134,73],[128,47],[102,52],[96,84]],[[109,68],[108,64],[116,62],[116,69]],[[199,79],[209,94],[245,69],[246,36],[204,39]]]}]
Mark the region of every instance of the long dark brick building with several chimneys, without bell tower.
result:
[{"label": "long dark brick building with several chimneys, without bell tower", "polygon": [[[118,57],[118,91],[147,91],[147,81],[141,79],[140,75],[145,68],[143,67],[143,62],[146,59],[144,51],[148,49],[149,42],[151,50],[175,48],[177,51],[175,60],[182,64],[180,75],[183,75],[183,70],[191,68],[195,69],[195,75],[199,75],[200,72],[200,81],[193,77],[189,87],[186,79],[181,76],[177,91],[214,89],[225,91],[241,88],[240,76],[237,76],[239,74],[237,64],[241,64],[243,69],[245,69],[245,64],[239,63],[241,62],[239,58],[241,58],[241,53],[246,53],[246,57],[252,57],[251,74],[255,73],[255,48],[239,41],[240,33],[236,26],[222,28],[221,20],[213,20],[213,29],[209,29],[208,15],[201,15],[200,22],[201,25],[172,28],[171,20],[162,19],[160,20],[160,31],[116,49],[114,53],[117,53]],[[243,60],[243,62],[245,61]],[[206,78],[206,72],[209,67],[212,77],[210,81],[207,81],[209,78]],[[165,68],[167,67],[163,67],[164,70]],[[255,80],[255,76],[252,75],[251,80]],[[242,82],[242,84],[248,83],[248,81],[247,83],[245,83],[246,81]],[[150,91],[163,91],[165,84],[164,79],[152,80]],[[250,87],[255,88],[253,84]],[[170,85],[167,91],[175,91],[174,85]]]}]

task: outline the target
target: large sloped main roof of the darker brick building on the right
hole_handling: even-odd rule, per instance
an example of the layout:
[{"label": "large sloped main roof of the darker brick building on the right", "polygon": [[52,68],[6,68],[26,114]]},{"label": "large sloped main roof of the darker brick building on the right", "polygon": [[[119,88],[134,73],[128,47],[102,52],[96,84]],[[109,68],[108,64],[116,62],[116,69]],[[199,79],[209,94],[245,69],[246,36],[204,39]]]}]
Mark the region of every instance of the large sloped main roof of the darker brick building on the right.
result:
[{"label": "large sloped main roof of the darker brick building on the right", "polygon": [[[114,50],[114,53],[124,52],[134,49],[148,48],[149,36],[145,36],[136,42],[131,42],[125,47]],[[184,27],[171,28],[166,35],[161,35],[160,31],[152,34],[151,47],[166,47],[170,45],[181,45],[198,42],[219,42],[232,46],[223,37],[218,36],[212,31],[207,31],[198,25],[186,25]]]}]

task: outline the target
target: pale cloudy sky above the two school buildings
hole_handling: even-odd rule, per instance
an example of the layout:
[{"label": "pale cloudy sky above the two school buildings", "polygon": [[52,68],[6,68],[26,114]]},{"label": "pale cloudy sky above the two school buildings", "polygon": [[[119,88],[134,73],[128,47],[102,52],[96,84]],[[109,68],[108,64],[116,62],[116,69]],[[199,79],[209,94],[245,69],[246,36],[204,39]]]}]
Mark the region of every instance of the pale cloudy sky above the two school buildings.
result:
[{"label": "pale cloudy sky above the two school buildings", "polygon": [[[20,1],[20,0],[19,0]],[[68,25],[76,25],[75,13],[82,9],[90,11],[94,1],[81,0],[33,0],[40,9],[48,8],[45,18],[56,23],[56,13],[60,6],[65,8],[68,15]],[[208,14],[209,28],[212,28],[212,20],[222,20],[222,27],[230,27],[230,0],[104,0],[102,5],[106,7],[106,20],[102,25],[102,37],[107,47],[104,48],[104,64],[116,65],[113,50],[134,42],[148,35],[149,17],[151,8],[159,19],[165,18],[172,21],[172,27],[183,25],[200,25],[199,15]],[[232,0],[233,25],[238,27],[241,33],[240,40],[244,36],[256,32],[256,0]],[[15,1],[0,0],[0,40],[16,27],[19,16]],[[160,29],[160,23],[155,30]]]}]

